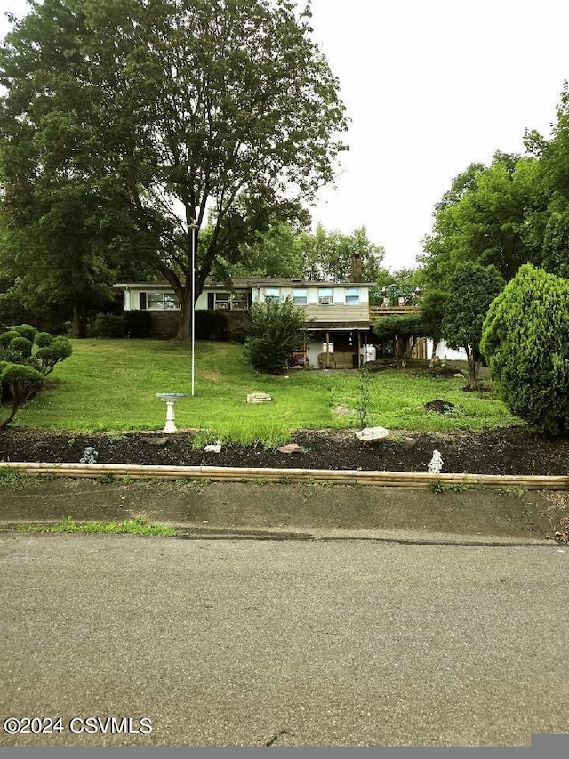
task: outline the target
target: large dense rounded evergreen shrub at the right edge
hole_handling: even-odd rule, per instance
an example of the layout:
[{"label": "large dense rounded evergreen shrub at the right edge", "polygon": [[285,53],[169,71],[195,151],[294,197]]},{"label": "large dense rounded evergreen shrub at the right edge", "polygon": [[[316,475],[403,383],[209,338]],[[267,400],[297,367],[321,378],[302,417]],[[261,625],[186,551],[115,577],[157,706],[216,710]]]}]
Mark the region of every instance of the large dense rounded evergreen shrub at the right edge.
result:
[{"label": "large dense rounded evergreen shrub at the right edge", "polygon": [[522,266],[491,304],[480,347],[512,413],[569,432],[569,279]]}]

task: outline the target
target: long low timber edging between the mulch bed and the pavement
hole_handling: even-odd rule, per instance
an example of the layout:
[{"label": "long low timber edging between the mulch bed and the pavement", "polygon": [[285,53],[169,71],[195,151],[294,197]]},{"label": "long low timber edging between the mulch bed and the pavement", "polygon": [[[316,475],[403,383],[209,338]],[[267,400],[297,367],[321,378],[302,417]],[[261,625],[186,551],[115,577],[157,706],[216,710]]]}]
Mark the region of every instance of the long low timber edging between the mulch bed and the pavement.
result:
[{"label": "long low timber edging between the mulch bed and the pavement", "polygon": [[2,469],[24,474],[57,475],[72,478],[102,476],[132,480],[212,480],[243,482],[251,480],[288,482],[328,482],[336,485],[376,485],[389,488],[428,489],[442,486],[467,488],[524,488],[529,490],[569,490],[569,475],[541,476],[517,474],[428,474],[425,472],[376,472],[328,469],[264,469],[262,467],[167,466],[146,464],[49,464],[36,462],[3,462]]}]

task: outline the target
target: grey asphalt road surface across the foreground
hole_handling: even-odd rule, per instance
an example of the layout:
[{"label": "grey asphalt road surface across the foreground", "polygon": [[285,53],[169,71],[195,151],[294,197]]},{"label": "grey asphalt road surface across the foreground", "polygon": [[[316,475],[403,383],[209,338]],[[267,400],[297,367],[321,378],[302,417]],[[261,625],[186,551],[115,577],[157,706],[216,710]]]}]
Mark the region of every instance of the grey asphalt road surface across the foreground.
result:
[{"label": "grey asphalt road surface across the foreground", "polygon": [[3,722],[62,718],[0,745],[569,732],[569,547],[4,534],[0,580]]}]

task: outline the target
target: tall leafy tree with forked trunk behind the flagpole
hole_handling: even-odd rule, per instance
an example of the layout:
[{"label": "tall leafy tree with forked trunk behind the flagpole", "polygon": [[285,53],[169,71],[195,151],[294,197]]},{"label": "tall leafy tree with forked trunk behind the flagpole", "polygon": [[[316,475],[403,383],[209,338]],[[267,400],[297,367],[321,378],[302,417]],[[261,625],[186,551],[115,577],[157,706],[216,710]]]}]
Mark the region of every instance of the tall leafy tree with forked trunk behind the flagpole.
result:
[{"label": "tall leafy tree with forked trunk behind the flagpole", "polygon": [[70,184],[94,196],[91,228],[103,218],[111,247],[168,280],[188,336],[194,245],[196,298],[218,258],[236,261],[256,232],[298,215],[345,149],[309,11],[288,0],[31,5],[0,49],[4,207],[25,229],[50,214],[54,178],[60,194]]}]

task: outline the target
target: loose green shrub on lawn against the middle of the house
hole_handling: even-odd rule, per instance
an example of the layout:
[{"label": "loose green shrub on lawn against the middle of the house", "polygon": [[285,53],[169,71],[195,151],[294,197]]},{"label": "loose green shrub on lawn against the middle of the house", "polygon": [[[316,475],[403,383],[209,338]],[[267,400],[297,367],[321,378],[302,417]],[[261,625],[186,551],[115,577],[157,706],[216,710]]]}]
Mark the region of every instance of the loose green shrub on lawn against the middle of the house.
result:
[{"label": "loose green shrub on lawn against the middle of the house", "polygon": [[245,355],[257,371],[282,374],[293,351],[305,343],[305,312],[293,304],[292,298],[286,298],[253,303],[250,314],[251,336],[244,344]]}]

